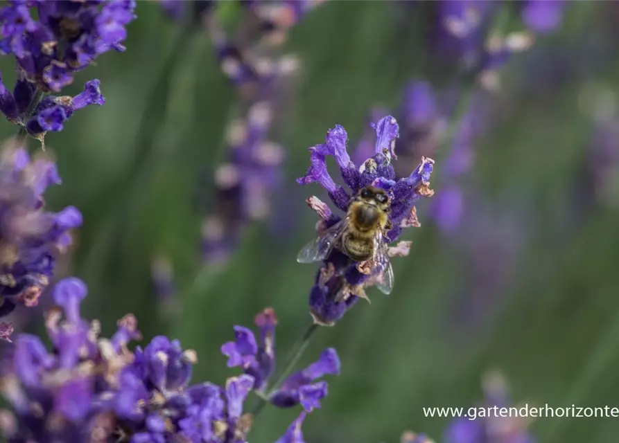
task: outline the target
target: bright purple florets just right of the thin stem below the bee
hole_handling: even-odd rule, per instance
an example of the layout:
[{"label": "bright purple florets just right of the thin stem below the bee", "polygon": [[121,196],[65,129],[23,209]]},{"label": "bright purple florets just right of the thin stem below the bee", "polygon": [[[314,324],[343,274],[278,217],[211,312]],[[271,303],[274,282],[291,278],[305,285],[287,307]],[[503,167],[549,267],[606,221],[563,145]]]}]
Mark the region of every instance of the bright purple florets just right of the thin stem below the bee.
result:
[{"label": "bright purple florets just right of the thin stem below the bee", "polygon": [[304,370],[295,372],[273,392],[269,401],[280,408],[292,408],[300,404],[311,413],[320,408],[320,400],[326,397],[329,385],[326,381],[316,381],[325,375],[340,374],[340,358],[331,347],[320,354],[320,358]]}]

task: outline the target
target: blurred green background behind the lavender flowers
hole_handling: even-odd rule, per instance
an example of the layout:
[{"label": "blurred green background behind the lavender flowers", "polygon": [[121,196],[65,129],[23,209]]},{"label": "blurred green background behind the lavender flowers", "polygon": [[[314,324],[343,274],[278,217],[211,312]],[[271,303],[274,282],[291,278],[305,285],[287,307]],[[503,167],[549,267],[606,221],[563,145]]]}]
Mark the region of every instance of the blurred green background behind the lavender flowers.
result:
[{"label": "blurred green background behind the lavender flowers", "polygon": [[[467,222],[447,236],[428,218],[427,202],[420,204],[423,227],[406,234],[414,242],[410,255],[394,260],[392,296],[370,291],[372,305],[360,302],[335,327],[317,332],[303,363],[333,346],[342,374],[329,379],[323,408],[306,419],[306,441],[398,442],[407,428],[441,441],[448,419],[425,418],[421,407],[475,404],[491,368],[506,374],[515,401],[619,406],[619,206],[600,203],[589,185],[594,127],[591,104],[582,105],[592,84],[619,86],[619,14],[613,0],[571,3],[557,33],[502,71],[494,98],[500,112],[476,144],[463,182],[484,209],[467,206]],[[335,123],[354,145],[374,105],[399,105],[412,78],[440,84],[450,74],[426,63],[427,17],[406,11],[396,2],[331,0],[291,31],[286,50],[299,55],[303,69],[277,129],[288,161],[274,213],[286,228],[248,226],[217,271],[200,260],[204,204],[196,195],[207,205],[212,199],[212,188],[198,188],[225,158],[236,93],[207,35],[194,35],[179,51],[173,42],[180,26],[157,4],[139,3],[128,51],[105,55],[70,88],[77,93],[100,78],[105,106],[76,113],[47,138],[63,179],[46,194],[48,204],[73,204],[84,214],[62,272],[89,285],[86,317],[101,318],[109,334],[132,312],[145,340],[168,334],[197,350],[195,381],[223,383],[236,373],[219,351],[232,326],[251,326],[254,314],[272,306],[284,356],[310,321],[315,266],[295,262],[316,221],[304,199],[324,197],[317,186],[295,184],[308,165],[306,148]],[[177,62],[170,81],[155,85],[171,51]],[[8,77],[10,61],[0,67]],[[164,123],[148,127],[154,142],[143,146],[136,133],[149,104]],[[2,124],[0,136],[14,130]],[[437,195],[447,154],[435,159]],[[476,223],[478,210],[489,230]],[[477,279],[493,271],[473,269],[479,260],[471,254],[487,254],[489,265],[500,260],[496,248],[475,248],[489,238],[498,249],[515,242],[517,252],[500,284],[487,290]],[[175,269],[178,315],[159,309],[152,289],[150,261],[158,253]],[[250,441],[273,442],[296,414],[267,408]],[[532,431],[540,442],[616,442],[619,419],[541,418]]]}]

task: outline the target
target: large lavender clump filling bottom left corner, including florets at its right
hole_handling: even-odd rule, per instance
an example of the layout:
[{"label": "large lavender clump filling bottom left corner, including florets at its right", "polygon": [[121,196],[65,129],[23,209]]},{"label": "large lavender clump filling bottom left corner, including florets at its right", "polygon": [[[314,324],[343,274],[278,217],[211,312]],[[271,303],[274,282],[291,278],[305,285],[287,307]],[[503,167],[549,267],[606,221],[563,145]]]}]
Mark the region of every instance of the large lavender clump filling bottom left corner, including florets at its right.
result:
[{"label": "large lavender clump filling bottom left corner, including florets at its right", "polygon": [[[252,426],[244,404],[252,389],[264,385],[274,363],[272,309],[256,317],[261,330],[257,346],[249,329],[235,327],[236,341],[222,350],[228,365],[244,374],[225,386],[190,385],[197,357],[180,342],[156,336],[143,349],[131,314],[118,322],[111,338],[100,336],[98,320],[80,316],[87,295],[78,278],[56,284],[57,307],[46,314],[52,350],[40,338],[20,334],[10,358],[3,361],[0,391],[12,406],[1,411],[0,430],[8,442],[242,443]],[[268,363],[270,362],[270,363]],[[320,406],[326,386],[313,379],[339,372],[334,350],[297,372],[274,394],[277,406],[302,404],[307,412]],[[279,442],[302,443],[303,412]]]}]

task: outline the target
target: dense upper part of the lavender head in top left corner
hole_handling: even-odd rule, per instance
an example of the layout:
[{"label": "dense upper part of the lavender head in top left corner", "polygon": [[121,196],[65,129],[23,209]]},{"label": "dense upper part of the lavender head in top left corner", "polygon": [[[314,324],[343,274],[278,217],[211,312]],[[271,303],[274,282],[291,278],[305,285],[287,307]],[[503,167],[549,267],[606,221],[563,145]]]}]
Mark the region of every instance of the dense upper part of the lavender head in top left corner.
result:
[{"label": "dense upper part of the lavender head in top left corner", "polygon": [[9,0],[0,9],[0,51],[15,56],[20,80],[58,92],[98,55],[125,50],[135,6],[134,0]]}]

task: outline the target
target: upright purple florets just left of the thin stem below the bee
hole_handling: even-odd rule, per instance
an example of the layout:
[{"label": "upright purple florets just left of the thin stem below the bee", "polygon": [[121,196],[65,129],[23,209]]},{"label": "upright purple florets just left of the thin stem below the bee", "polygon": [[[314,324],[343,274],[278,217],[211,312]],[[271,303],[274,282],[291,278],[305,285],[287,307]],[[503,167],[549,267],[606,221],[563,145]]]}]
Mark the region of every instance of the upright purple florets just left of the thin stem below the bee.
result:
[{"label": "upright purple florets just left of the thin stem below the bee", "polygon": [[235,340],[225,343],[221,352],[228,357],[228,368],[240,366],[245,374],[254,379],[253,389],[264,392],[275,369],[275,311],[264,309],[256,316],[255,323],[259,330],[259,342],[256,342],[251,329],[235,326]]}]

